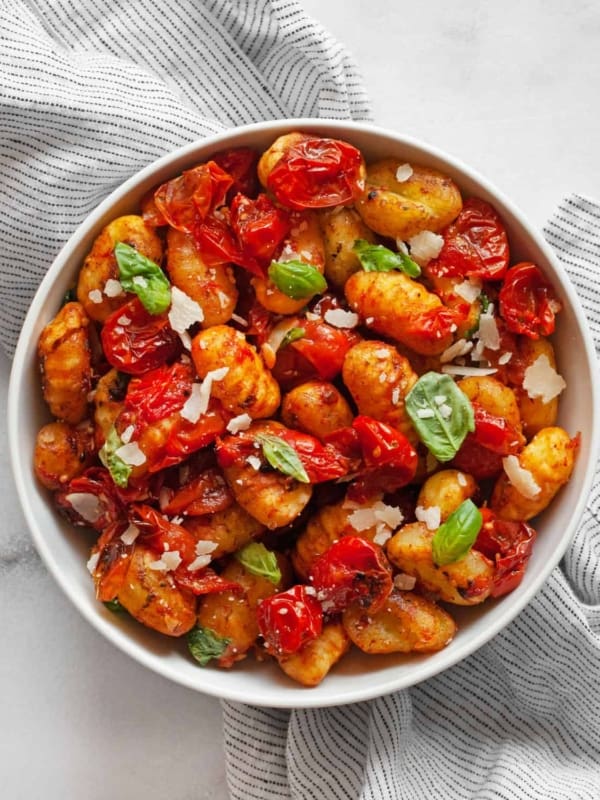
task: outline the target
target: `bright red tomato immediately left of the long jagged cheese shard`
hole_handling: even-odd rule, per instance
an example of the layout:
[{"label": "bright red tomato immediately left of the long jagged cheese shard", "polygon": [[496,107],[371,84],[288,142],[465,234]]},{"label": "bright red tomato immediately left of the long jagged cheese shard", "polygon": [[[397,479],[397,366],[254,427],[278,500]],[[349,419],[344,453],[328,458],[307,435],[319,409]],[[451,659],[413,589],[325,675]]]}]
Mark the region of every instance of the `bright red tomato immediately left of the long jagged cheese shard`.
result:
[{"label": "bright red tomato immediately left of the long jagged cheese shard", "polygon": [[194,371],[180,361],[163,365],[129,381],[125,407],[135,409],[139,422],[152,424],[179,411],[191,394]]}]

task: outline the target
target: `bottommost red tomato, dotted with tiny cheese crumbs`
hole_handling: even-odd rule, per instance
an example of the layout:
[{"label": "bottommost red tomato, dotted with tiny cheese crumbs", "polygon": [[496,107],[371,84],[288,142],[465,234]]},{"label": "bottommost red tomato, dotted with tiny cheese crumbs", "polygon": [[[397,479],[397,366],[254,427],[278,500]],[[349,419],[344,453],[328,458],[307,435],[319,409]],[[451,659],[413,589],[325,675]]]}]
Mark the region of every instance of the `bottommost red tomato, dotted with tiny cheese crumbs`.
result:
[{"label": "bottommost red tomato, dotted with tiny cheese crumbs", "polygon": [[302,585],[262,600],[257,618],[266,649],[276,656],[296,653],[323,629],[321,604]]}]

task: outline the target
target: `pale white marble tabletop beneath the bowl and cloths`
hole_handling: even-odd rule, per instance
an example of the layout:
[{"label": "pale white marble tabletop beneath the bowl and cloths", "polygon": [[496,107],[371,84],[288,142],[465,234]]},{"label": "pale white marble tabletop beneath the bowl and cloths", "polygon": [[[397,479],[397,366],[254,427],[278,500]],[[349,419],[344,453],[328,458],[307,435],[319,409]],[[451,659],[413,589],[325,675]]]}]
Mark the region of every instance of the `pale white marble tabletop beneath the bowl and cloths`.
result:
[{"label": "pale white marble tabletop beneath the bowl and cloths", "polygon": [[[305,0],[362,66],[375,120],[484,173],[541,226],[600,197],[596,0]],[[7,459],[0,356],[0,776],[7,800],[227,797],[218,702],[104,641],[33,550]]]}]

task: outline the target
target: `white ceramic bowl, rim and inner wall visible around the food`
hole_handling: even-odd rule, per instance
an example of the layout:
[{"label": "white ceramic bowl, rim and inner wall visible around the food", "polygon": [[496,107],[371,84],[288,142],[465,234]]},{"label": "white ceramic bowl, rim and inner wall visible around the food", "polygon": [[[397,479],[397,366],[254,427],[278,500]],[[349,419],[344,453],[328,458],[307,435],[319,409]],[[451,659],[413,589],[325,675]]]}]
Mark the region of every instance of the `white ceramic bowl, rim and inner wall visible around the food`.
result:
[{"label": "white ceramic bowl, rim and inner wall visible around the food", "polygon": [[[479,608],[455,607],[458,634],[439,653],[366,656],[354,650],[314,689],[295,685],[276,665],[259,664],[252,658],[229,671],[198,667],[189,657],[184,641],[163,637],[108,611],[96,601],[86,569],[92,539],[57,514],[49,493],[37,483],[32,469],[36,433],[49,418],[40,390],[37,340],[59,308],[100,229],[121,214],[135,212],[140,198],[152,186],[206,160],[212,153],[239,145],[262,150],[290,130],[347,139],[362,150],[367,160],[398,156],[404,161],[436,167],[450,175],[465,194],[483,197],[495,206],[509,233],[513,263],[527,259],[538,264],[563,303],[554,338],[560,371],[567,381],[559,424],[571,434],[581,431],[575,472],[535,522],[540,535],[518,589]],[[134,175],[80,225],[48,270],[23,325],[11,375],[8,415],[15,481],[37,549],[60,586],[92,625],[141,664],[192,689],[257,705],[309,707],[367,700],[423,681],[481,647],[518,614],[559,562],[583,511],[598,450],[600,403],[594,365],[585,317],[564,269],[512,203],[473,170],[429,146],[372,125],[322,120],[250,125],[186,145]]]}]

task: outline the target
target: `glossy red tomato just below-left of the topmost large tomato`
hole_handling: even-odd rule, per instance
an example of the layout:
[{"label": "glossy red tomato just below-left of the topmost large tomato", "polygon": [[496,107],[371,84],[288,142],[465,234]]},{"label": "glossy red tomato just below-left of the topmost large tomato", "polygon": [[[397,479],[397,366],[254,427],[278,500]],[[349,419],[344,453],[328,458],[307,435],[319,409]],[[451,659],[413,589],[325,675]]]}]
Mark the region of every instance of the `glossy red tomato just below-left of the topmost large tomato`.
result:
[{"label": "glossy red tomato just below-left of the topmost large tomato", "polygon": [[230,212],[231,227],[244,257],[266,269],[290,229],[288,214],[266,194],[259,194],[256,200],[236,194]]}]

